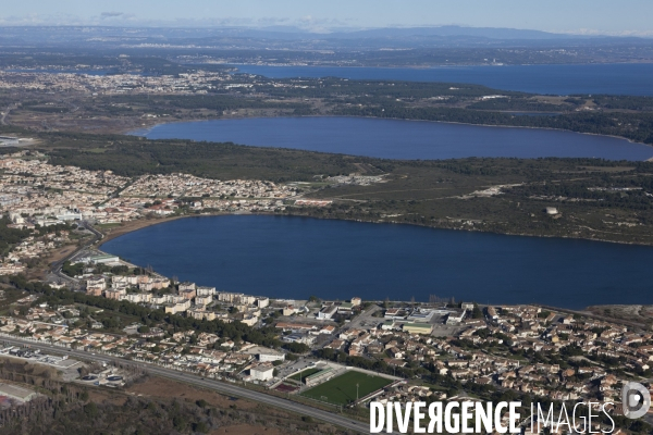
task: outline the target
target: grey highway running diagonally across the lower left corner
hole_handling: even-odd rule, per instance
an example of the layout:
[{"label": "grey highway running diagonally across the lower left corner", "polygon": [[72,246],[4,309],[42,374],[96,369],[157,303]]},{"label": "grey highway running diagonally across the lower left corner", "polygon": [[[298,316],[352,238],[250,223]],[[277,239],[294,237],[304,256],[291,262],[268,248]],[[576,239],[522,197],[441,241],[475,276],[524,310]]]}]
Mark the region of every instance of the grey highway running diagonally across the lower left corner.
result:
[{"label": "grey highway running diagonally across the lower left corner", "polygon": [[[13,338],[13,337],[9,338],[9,337],[3,336],[3,337],[0,337],[0,341],[4,341],[4,343],[8,343],[13,346],[28,345],[33,349],[39,349],[47,353],[67,355],[69,357],[75,357],[76,359],[86,360],[86,361],[99,361],[99,362],[116,361],[116,362],[123,362],[123,363],[126,361],[126,360],[124,360],[122,358],[118,358],[118,357],[110,357],[110,356],[106,356],[106,355],[94,355],[94,353],[86,352],[83,350],[65,349],[65,348],[61,348],[59,346],[52,346],[52,345],[48,345],[45,343],[34,343],[34,341],[28,341],[28,340],[22,340],[19,338]],[[165,369],[165,368],[161,368],[158,365],[139,363],[137,361],[128,361],[128,362],[132,364],[138,365],[143,369],[146,369],[150,374],[153,374],[157,376],[168,377],[168,378],[171,378],[174,381],[181,381],[186,384],[213,389],[223,395],[239,397],[239,398],[248,399],[248,400],[254,400],[259,403],[264,403],[264,405],[269,405],[271,407],[281,408],[286,411],[295,412],[295,413],[298,413],[301,415],[308,415],[316,420],[321,420],[323,422],[331,423],[333,425],[341,426],[341,427],[349,430],[349,431],[355,431],[355,432],[364,433],[364,434],[369,433],[369,424],[368,423],[362,423],[362,422],[359,422],[359,421],[356,421],[353,419],[348,419],[343,415],[322,411],[320,409],[311,408],[309,406],[297,403],[292,400],[270,396],[264,393],[254,391],[254,390],[241,387],[236,384],[230,384],[230,383],[224,383],[224,382],[219,382],[219,381],[213,381],[213,380],[205,380],[205,378],[198,377],[193,374],[183,373],[183,372],[178,372],[176,370]]]}]

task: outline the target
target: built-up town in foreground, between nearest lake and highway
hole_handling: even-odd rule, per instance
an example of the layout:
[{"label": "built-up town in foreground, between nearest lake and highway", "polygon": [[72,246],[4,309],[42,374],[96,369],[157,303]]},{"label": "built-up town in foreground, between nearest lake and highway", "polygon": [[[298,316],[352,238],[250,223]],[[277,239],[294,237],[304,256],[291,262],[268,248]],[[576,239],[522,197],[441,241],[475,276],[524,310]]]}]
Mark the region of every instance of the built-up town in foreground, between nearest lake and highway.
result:
[{"label": "built-up town in foreground, between nearest lake and highway", "polygon": [[[274,300],[148,274],[104,273],[85,281],[85,293],[93,298],[195,321],[272,328],[280,347],[194,327],[174,332],[164,321],[122,327],[103,309],[50,306],[34,294],[16,299],[9,315],[0,318],[0,335],[259,384],[272,394],[331,405],[312,391],[356,374],[380,381],[372,390],[361,389],[358,398],[340,402],[349,407],[473,401],[483,394],[513,391],[513,397],[605,403],[616,418],[621,414],[621,385],[651,376],[650,332],[535,306],[370,302],[356,297]],[[2,353],[19,350],[8,347]]]}]

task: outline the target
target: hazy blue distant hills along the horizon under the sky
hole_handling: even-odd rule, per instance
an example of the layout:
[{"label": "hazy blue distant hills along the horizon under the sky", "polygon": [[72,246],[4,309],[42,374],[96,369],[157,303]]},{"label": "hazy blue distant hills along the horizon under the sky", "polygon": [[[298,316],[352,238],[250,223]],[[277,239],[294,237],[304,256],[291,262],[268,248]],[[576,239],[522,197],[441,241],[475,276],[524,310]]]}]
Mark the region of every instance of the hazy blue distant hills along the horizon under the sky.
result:
[{"label": "hazy blue distant hills along the horizon under the sky", "polygon": [[653,46],[653,38],[553,34],[493,27],[341,28],[312,33],[291,26],[248,27],[102,27],[4,26],[0,47],[137,48],[186,47],[269,50],[382,50],[461,48],[547,48]]}]

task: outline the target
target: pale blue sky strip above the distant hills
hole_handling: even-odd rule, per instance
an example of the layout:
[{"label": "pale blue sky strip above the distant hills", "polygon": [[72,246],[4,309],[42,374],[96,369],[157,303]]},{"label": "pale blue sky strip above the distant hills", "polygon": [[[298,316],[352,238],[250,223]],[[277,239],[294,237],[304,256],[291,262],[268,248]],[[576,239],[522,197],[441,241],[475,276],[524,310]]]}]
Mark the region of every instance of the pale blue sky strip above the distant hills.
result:
[{"label": "pale blue sky strip above the distant hills", "polygon": [[334,27],[457,24],[559,33],[653,36],[653,0],[21,0],[0,25],[293,25]]}]

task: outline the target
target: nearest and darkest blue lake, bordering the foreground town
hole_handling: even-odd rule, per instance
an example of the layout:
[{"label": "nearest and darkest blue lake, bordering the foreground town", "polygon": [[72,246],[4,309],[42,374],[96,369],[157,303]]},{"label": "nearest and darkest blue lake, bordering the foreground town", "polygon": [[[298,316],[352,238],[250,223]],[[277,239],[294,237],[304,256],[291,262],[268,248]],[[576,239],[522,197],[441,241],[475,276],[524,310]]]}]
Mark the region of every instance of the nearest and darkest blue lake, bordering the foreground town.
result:
[{"label": "nearest and darkest blue lake, bordering the foreground town", "polygon": [[653,303],[653,248],[588,240],[230,215],[150,226],[102,249],[182,281],[275,298]]}]

